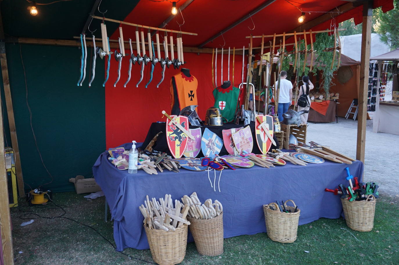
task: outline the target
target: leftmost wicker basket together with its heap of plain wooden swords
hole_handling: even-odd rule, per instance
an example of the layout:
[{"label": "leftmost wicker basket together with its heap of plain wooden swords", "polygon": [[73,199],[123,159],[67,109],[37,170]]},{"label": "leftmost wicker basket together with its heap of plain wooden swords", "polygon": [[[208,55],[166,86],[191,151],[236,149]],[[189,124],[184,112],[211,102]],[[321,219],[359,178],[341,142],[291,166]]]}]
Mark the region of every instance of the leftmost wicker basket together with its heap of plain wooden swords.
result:
[{"label": "leftmost wicker basket together with its heap of plain wooden swords", "polygon": [[[146,196],[145,205],[139,206],[144,216],[144,229],[152,259],[159,265],[174,265],[186,256],[188,224],[187,213],[190,206],[179,200],[173,201],[170,194],[158,201]],[[183,209],[182,209],[183,208]],[[182,210],[181,210],[182,209]]]}]

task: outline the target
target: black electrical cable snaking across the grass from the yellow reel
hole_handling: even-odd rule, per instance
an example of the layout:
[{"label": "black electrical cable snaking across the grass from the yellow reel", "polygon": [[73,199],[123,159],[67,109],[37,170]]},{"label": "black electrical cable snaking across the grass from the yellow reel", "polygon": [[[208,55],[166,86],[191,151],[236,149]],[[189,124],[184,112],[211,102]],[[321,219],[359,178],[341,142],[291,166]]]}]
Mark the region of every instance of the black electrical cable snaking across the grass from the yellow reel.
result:
[{"label": "black electrical cable snaking across the grass from the yellow reel", "polygon": [[[45,193],[45,194],[48,196],[49,200],[51,200],[51,198],[50,198],[50,196],[47,194],[47,192],[43,192],[43,193]],[[19,210],[19,212],[27,212],[27,213],[26,213],[26,214],[20,215],[19,218],[22,219],[22,220],[30,220],[30,219],[36,219],[36,218],[37,218],[37,217],[36,217],[36,218],[35,218],[35,217],[29,217],[29,218],[26,217],[26,216],[29,216],[29,215],[38,216],[38,217],[43,218],[43,219],[64,218],[64,219],[73,221],[73,222],[75,222],[75,223],[77,223],[77,224],[80,224],[80,225],[82,225],[82,226],[86,226],[86,227],[88,227],[88,228],[94,230],[94,231],[95,231],[97,234],[99,234],[105,241],[107,241],[115,250],[117,250],[117,247],[115,247],[114,244],[113,244],[111,241],[109,241],[107,238],[105,238],[105,236],[103,236],[103,235],[102,235],[99,231],[97,231],[95,228],[93,228],[93,227],[91,227],[91,226],[88,226],[87,224],[83,224],[83,223],[81,223],[81,222],[79,222],[79,221],[76,221],[76,220],[74,220],[74,219],[72,219],[72,218],[65,217],[64,215],[67,214],[67,212],[65,211],[65,209],[64,209],[63,207],[59,206],[58,204],[56,204],[53,200],[51,200],[51,202],[52,202],[55,206],[57,206],[57,208],[47,208],[47,207],[50,207],[50,206],[52,206],[52,205],[45,205],[45,206],[36,205],[35,207],[36,207],[36,208],[47,208],[46,210],[61,209],[61,210],[63,211],[63,213],[61,213],[59,216],[41,216],[41,215],[39,215],[39,214],[33,213],[34,211],[23,211],[23,210],[21,210],[21,207],[25,205],[25,204],[23,204],[22,206],[18,207],[18,210]],[[32,213],[31,213],[31,212],[32,212]],[[126,254],[126,253],[123,253],[122,251],[118,251],[118,252],[121,253],[121,254],[123,254],[123,255],[125,255],[125,256],[128,257],[129,259],[137,259],[137,260],[139,260],[139,261],[143,261],[143,262],[146,262],[146,263],[149,263],[149,264],[157,264],[157,263],[154,263],[154,262],[151,262],[151,261],[146,261],[146,260],[144,260],[144,259],[140,259],[140,258],[137,258],[137,257],[132,257],[132,256]]]}]

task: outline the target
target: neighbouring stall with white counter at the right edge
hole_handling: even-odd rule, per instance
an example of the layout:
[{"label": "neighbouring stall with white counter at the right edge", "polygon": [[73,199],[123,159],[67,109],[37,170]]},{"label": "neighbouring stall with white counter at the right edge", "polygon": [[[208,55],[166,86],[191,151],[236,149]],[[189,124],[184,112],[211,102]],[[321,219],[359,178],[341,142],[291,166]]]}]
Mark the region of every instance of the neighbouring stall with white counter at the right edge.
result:
[{"label": "neighbouring stall with white counter at the right edge", "polygon": [[[392,100],[385,101],[385,86],[388,75],[397,79],[397,65],[399,61],[399,48],[387,53],[370,58],[370,77],[369,83],[375,88],[372,94],[377,95],[375,100],[375,113],[373,116],[373,132],[392,133],[399,135],[399,126],[393,120],[399,118],[399,94],[396,88],[392,89]],[[396,90],[396,91],[395,91]]]}]

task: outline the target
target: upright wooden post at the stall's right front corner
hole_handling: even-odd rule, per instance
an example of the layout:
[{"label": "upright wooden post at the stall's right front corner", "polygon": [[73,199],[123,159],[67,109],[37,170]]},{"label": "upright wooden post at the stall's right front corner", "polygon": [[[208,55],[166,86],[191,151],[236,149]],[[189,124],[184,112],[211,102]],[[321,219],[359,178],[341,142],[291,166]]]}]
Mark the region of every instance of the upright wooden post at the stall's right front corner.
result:
[{"label": "upright wooden post at the stall's right front corner", "polygon": [[361,31],[360,86],[358,98],[358,139],[356,159],[364,163],[367,120],[367,96],[369,83],[369,64],[371,49],[371,22],[373,18],[373,0],[363,3],[363,25]]}]

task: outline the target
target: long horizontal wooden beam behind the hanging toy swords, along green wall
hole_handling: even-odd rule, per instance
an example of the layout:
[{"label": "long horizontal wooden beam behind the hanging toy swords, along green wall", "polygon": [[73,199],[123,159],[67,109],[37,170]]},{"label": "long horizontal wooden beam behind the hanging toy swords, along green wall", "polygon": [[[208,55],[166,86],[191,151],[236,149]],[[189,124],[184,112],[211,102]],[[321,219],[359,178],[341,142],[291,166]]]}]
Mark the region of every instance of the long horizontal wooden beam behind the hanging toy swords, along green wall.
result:
[{"label": "long horizontal wooden beam behind the hanging toy swords, along green wall", "polygon": [[[101,39],[99,39],[101,40]],[[110,39],[110,47],[113,49],[119,49],[117,40]],[[37,38],[23,38],[23,37],[7,37],[6,43],[20,43],[20,44],[33,44],[33,45],[51,45],[51,46],[71,46],[81,47],[80,41],[69,40],[69,39],[37,39]],[[93,47],[93,42],[87,41],[87,47]],[[125,49],[130,49],[129,42],[124,41]],[[176,45],[175,45],[176,47]],[[132,48],[136,49],[136,42],[132,41]],[[161,51],[164,50],[163,45],[160,46]],[[238,50],[238,51],[237,51]],[[196,47],[183,47],[185,53],[210,53],[212,54],[212,48],[196,48]],[[236,49],[237,55],[242,55],[242,49]],[[226,51],[227,53],[227,51]]]}]

